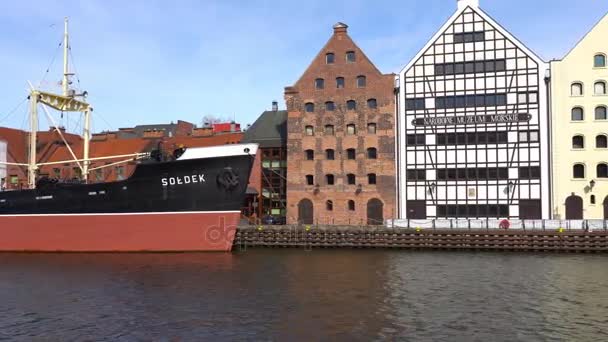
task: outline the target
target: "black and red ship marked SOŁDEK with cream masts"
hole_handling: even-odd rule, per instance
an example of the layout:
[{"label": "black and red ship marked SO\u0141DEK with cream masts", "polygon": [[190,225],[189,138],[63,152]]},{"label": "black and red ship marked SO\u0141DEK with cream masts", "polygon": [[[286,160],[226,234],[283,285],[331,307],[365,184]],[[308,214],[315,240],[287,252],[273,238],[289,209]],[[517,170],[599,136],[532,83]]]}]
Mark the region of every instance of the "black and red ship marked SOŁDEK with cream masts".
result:
[{"label": "black and red ship marked SO\u0141DEK with cream masts", "polygon": [[[28,187],[0,191],[0,251],[230,251],[258,145],[180,147],[170,158],[160,151],[89,158],[92,107],[86,92],[69,87],[68,39],[66,18],[63,94],[31,86],[28,163],[4,162],[27,166]],[[38,106],[84,114],[82,158],[66,143],[74,160],[52,163],[75,163],[81,181],[38,176],[45,165],[36,160]],[[137,161],[128,178],[88,181],[91,161],[117,157]]]}]

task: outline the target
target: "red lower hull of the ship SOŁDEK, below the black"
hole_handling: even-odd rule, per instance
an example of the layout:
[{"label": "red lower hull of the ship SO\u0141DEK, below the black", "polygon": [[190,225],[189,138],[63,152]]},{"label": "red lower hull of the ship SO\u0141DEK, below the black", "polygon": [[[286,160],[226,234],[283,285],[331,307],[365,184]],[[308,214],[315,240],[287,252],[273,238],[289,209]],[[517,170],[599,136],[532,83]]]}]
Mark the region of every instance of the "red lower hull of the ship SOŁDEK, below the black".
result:
[{"label": "red lower hull of the ship SO\u0141DEK, below the black", "polygon": [[239,218],[238,211],[0,215],[0,251],[230,251]]}]

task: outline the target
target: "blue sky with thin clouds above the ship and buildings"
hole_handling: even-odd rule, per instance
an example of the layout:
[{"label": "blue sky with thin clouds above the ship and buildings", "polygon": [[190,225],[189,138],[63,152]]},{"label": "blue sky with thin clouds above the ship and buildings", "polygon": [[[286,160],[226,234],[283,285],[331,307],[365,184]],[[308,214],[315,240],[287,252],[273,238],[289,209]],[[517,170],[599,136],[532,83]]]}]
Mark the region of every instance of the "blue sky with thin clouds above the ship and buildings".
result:
[{"label": "blue sky with thin clouds above the ship and buildings", "polygon": [[[605,0],[480,0],[546,60],[561,58],[606,12]],[[456,0],[2,1],[0,126],[27,128],[27,81],[59,90],[57,47],[70,17],[80,88],[94,131],[205,115],[252,123],[284,107],[338,21],[385,72],[398,72],[455,11]],[[49,73],[45,70],[53,56]],[[64,120],[66,120],[64,118]],[[64,121],[79,127],[76,116]],[[41,126],[46,126],[41,120]]]}]

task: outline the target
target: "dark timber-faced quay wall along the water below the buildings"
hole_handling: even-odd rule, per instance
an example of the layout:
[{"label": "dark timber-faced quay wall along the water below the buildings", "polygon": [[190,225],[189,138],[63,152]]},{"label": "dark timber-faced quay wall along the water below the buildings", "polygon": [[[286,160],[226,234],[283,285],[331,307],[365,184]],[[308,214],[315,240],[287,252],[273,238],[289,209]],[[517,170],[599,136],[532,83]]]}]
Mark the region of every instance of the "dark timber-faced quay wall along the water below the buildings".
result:
[{"label": "dark timber-faced quay wall along the water below the buildings", "polygon": [[404,229],[377,226],[241,226],[234,249],[395,248],[608,252],[608,231],[570,229]]}]

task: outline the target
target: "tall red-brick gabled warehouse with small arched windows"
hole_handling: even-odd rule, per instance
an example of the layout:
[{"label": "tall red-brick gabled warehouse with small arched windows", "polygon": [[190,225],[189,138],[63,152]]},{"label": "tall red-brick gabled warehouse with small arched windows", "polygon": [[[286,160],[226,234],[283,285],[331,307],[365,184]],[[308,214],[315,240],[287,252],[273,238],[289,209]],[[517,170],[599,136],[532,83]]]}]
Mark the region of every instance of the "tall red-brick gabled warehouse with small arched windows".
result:
[{"label": "tall red-brick gabled warehouse with small arched windows", "polygon": [[287,105],[287,222],[382,224],[395,215],[394,74],[334,33]]}]

